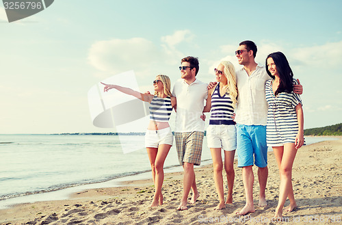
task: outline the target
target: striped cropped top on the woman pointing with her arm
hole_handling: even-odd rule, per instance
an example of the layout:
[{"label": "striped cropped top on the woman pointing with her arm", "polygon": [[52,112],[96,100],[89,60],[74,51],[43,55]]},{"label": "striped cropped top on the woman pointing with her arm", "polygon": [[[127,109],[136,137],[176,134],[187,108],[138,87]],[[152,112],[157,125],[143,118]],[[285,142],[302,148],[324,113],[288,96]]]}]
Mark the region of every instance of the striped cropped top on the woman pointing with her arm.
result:
[{"label": "striped cropped top on the woman pointing with her arm", "polygon": [[168,122],[172,112],[171,98],[154,96],[150,102],[150,120]]}]

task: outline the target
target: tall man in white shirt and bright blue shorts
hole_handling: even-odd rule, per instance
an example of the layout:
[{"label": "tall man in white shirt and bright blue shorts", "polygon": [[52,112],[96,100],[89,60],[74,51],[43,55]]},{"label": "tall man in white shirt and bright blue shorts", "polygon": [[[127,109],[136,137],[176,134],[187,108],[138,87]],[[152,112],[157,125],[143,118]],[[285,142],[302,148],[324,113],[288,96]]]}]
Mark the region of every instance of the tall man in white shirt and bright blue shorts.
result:
[{"label": "tall man in white shirt and bright blue shorts", "polygon": [[[266,123],[268,105],[265,99],[265,83],[271,79],[263,66],[254,57],[257,45],[250,40],[239,44],[235,51],[237,60],[244,68],[236,71],[237,76],[237,166],[242,168],[242,180],[246,194],[246,205],[238,214],[246,215],[255,211],[253,204],[254,174],[252,166],[258,167],[259,206],[267,206],[265,188],[267,183]],[[293,87],[302,94],[302,85]],[[254,157],[253,157],[254,156]]]}]

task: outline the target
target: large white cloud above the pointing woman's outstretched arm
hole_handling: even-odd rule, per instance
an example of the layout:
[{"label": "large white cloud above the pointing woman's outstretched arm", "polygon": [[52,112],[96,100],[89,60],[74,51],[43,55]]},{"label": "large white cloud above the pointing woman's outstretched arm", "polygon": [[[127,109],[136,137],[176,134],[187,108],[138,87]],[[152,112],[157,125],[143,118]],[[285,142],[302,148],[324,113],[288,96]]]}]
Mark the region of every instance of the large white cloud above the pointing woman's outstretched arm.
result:
[{"label": "large white cloud above the pointing woman's outstretched arm", "polygon": [[183,53],[175,45],[189,42],[193,35],[188,30],[162,36],[160,43],[146,38],[111,39],[94,42],[88,52],[88,61],[100,70],[96,77],[134,70],[137,77],[151,74],[171,74]]}]

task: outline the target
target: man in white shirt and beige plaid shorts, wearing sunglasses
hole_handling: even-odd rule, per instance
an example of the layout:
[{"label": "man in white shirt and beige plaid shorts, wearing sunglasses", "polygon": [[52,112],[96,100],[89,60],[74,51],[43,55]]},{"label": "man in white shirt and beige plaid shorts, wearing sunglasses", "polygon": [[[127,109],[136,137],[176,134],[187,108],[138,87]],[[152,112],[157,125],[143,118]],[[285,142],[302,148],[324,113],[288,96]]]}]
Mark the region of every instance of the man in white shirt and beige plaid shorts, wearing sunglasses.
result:
[{"label": "man in white shirt and beige plaid shorts, wearing sunglasses", "polygon": [[183,165],[183,197],[178,210],[187,209],[187,196],[192,189],[193,204],[198,196],[194,165],[200,165],[205,122],[200,118],[207,99],[207,84],[196,79],[199,64],[198,58],[188,56],[181,60],[179,69],[181,78],[176,81],[172,91],[177,99],[176,125],[174,138],[176,140],[179,163]]}]

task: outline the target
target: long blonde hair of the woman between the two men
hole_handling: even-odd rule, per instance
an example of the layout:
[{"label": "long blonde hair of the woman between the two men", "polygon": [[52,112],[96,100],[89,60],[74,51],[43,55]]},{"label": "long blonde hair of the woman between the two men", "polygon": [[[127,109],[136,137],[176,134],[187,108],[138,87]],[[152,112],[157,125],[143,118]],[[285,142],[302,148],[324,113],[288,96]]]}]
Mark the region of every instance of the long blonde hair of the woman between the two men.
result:
[{"label": "long blonde hair of the woman between the two men", "polygon": [[226,92],[231,96],[233,108],[235,109],[237,104],[237,84],[235,67],[229,61],[222,61],[220,65],[224,66],[224,76],[227,78]]}]

